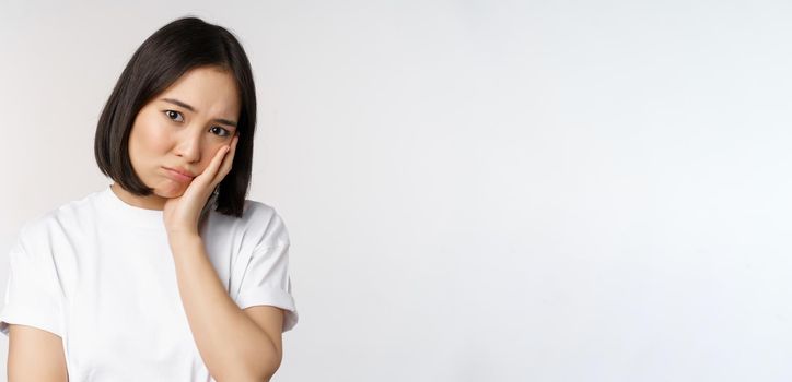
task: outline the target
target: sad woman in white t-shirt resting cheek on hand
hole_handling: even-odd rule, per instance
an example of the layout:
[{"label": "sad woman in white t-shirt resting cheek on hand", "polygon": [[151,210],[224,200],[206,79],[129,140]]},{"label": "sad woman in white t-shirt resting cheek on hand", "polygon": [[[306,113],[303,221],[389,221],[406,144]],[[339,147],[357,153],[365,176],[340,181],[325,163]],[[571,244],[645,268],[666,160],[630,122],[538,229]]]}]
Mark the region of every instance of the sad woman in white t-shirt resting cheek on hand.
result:
[{"label": "sad woman in white t-shirt resting cheek on hand", "polygon": [[267,381],[298,322],[281,217],[245,199],[256,95],[226,29],[173,21],[98,120],[107,188],[20,229],[9,381]]}]

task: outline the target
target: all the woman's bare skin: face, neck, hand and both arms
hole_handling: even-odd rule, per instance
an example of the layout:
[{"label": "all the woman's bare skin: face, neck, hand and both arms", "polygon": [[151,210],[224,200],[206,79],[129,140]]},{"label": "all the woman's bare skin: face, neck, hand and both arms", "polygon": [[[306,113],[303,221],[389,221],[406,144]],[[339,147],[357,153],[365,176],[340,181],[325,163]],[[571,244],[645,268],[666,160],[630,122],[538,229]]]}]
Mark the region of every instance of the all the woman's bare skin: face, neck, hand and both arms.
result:
[{"label": "all the woman's bare skin: face, neck, hand and both arms", "polygon": [[[283,311],[271,306],[241,310],[198,232],[201,208],[231,170],[238,141],[232,124],[238,115],[237,88],[229,72],[196,68],[185,73],[140,110],[129,135],[132,168],[153,194],[133,195],[117,183],[110,189],[130,205],[163,211],[179,295],[210,373],[218,381],[269,381],[282,358]],[[178,180],[163,166],[186,168],[196,177]],[[60,337],[25,325],[12,324],[10,331],[10,382],[68,380]]]}]

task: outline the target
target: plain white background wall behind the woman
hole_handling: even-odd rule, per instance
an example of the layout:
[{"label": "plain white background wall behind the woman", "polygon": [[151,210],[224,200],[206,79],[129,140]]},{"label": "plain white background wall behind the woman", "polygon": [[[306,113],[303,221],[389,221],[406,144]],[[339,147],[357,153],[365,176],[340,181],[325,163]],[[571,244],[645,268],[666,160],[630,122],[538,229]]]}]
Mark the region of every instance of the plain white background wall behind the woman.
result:
[{"label": "plain white background wall behind the woman", "polygon": [[196,4],[0,3],[5,253],[109,184],[102,106],[193,14],[254,67],[273,381],[792,380],[792,3]]}]

